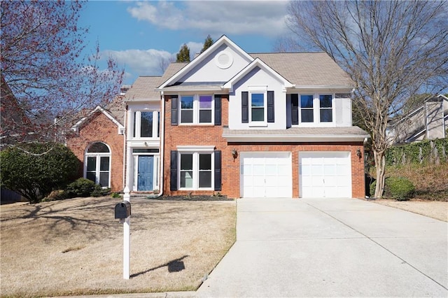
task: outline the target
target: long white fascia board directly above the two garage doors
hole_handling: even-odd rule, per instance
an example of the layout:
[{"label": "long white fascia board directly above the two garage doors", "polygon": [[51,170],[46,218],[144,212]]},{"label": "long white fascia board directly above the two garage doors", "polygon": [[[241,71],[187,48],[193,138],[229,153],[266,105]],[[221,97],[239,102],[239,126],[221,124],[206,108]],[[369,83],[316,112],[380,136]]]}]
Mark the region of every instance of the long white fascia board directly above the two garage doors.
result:
[{"label": "long white fascia board directly above the two garage doors", "polygon": [[285,136],[285,135],[225,135],[223,138],[228,142],[363,142],[366,138],[370,138],[369,135],[319,135],[319,136]]}]

